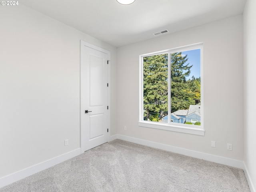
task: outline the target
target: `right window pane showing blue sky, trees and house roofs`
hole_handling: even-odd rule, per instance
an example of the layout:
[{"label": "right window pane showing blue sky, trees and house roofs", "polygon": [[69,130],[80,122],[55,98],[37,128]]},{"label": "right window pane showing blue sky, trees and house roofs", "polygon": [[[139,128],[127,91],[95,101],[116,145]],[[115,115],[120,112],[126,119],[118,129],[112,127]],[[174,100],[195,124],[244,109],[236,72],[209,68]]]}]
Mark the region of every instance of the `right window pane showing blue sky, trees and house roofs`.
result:
[{"label": "right window pane showing blue sky, trees and house roofs", "polygon": [[171,119],[201,125],[200,49],[171,54]]}]

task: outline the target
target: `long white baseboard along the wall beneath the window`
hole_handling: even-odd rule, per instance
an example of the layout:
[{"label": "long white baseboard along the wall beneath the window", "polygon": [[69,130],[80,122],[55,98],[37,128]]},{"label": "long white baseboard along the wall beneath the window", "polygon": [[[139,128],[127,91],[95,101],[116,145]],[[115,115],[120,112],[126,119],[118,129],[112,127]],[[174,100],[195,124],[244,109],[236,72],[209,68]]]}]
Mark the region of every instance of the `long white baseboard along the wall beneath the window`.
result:
[{"label": "long white baseboard along the wall beneath the window", "polygon": [[242,161],[225,158],[221,156],[216,156],[216,155],[211,155],[211,154],[206,154],[198,151],[188,150],[184,148],[174,147],[174,146],[152,142],[148,140],[142,140],[142,139],[129,137],[125,135],[118,134],[117,138],[121,140],[129,141],[129,142],[133,142],[133,143],[137,143],[137,144],[141,144],[141,145],[145,145],[153,148],[158,148],[161,150],[166,150],[169,152],[174,152],[174,153],[178,153],[178,154],[182,154],[182,155],[186,155],[186,156],[190,156],[198,159],[203,159],[210,162],[224,164],[224,165],[228,165],[228,166],[232,166],[232,167],[236,167],[244,170],[244,162]]}]

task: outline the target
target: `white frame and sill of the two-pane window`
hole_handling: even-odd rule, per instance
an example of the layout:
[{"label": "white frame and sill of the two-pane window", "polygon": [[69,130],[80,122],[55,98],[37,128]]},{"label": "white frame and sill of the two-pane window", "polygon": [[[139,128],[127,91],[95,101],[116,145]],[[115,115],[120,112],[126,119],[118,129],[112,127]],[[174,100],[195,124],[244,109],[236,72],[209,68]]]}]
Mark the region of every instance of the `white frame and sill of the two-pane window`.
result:
[{"label": "white frame and sill of the two-pane window", "polygon": [[[168,99],[168,123],[162,123],[162,122],[152,122],[152,121],[145,121],[144,120],[144,108],[143,108],[143,58],[146,56],[154,56],[157,54],[166,54],[168,53],[168,79],[170,78],[171,72],[170,72],[170,54],[172,53],[176,53],[176,52],[184,52],[184,51],[189,51],[189,50],[194,50],[194,49],[201,49],[201,126],[197,126],[197,125],[190,125],[190,124],[180,124],[180,123],[174,123],[171,122],[171,113],[170,113],[170,108],[171,108],[171,101],[170,99]],[[204,126],[203,126],[203,116],[204,116],[204,80],[203,80],[203,43],[197,43],[197,44],[192,44],[192,45],[188,45],[188,46],[182,46],[182,47],[178,47],[178,48],[172,48],[169,50],[163,50],[163,51],[159,51],[159,52],[153,52],[150,54],[142,54],[139,56],[140,59],[140,84],[139,84],[139,88],[140,88],[140,93],[139,93],[139,122],[138,125],[142,126],[142,127],[148,127],[148,128],[155,128],[155,129],[161,129],[161,130],[170,130],[170,131],[175,131],[175,132],[182,132],[182,133],[188,133],[188,134],[196,134],[196,135],[201,135],[204,136]],[[171,88],[171,84],[168,83],[168,92],[170,92]]]}]

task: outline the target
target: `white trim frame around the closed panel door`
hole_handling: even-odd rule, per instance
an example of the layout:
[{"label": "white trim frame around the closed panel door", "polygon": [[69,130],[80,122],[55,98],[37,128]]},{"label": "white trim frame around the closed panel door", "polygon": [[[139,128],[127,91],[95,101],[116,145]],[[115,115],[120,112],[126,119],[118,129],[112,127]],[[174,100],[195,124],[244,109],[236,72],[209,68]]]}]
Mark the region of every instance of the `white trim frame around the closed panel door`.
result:
[{"label": "white trim frame around the closed panel door", "polygon": [[[108,61],[110,61],[110,51],[108,51],[106,49],[103,49],[103,48],[100,48],[98,46],[95,46],[93,44],[90,44],[88,42],[85,42],[83,40],[80,40],[80,148],[81,148],[81,154],[84,153],[84,148],[85,148],[85,147],[83,147],[84,142],[85,142],[85,137],[83,137],[85,130],[81,126],[82,114],[83,114],[82,109],[81,109],[81,89],[82,89],[81,88],[81,77],[82,77],[81,65],[82,65],[82,60],[83,60],[82,50],[83,50],[84,46],[107,54],[108,55]],[[107,74],[108,75],[108,111],[107,111],[108,142],[110,142],[110,135],[111,135],[110,134],[110,132],[111,132],[111,129],[110,129],[110,110],[111,110],[111,107],[110,107],[110,89],[111,89],[110,64],[111,64],[111,62],[108,62],[108,74]]]}]

